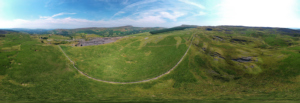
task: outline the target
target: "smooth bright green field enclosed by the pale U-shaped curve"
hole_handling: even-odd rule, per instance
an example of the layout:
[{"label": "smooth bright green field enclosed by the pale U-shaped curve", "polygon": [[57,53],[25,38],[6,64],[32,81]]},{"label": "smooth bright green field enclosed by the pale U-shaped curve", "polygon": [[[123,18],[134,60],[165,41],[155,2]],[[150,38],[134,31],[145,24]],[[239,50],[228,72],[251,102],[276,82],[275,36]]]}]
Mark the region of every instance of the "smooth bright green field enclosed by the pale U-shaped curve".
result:
[{"label": "smooth bright green field enclosed by the pale U-shaped curve", "polygon": [[115,43],[68,47],[67,55],[84,73],[107,81],[132,82],[154,78],[170,70],[180,60],[190,34],[125,37]]}]

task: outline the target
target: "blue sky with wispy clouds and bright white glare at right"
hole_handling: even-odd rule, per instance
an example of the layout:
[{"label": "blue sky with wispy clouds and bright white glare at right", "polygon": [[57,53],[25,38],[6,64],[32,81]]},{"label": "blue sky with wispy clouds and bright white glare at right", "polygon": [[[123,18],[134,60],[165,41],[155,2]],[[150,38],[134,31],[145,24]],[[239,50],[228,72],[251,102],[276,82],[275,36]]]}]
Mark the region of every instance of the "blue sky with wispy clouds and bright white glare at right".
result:
[{"label": "blue sky with wispy clouds and bright white glare at right", "polygon": [[300,0],[0,0],[0,28],[300,28]]}]

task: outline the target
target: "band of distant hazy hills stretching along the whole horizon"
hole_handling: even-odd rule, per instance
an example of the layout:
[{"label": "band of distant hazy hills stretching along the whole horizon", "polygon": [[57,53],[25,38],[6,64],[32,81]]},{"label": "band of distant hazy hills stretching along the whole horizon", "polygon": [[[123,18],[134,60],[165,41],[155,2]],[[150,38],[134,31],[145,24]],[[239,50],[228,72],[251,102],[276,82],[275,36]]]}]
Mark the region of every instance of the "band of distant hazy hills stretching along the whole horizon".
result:
[{"label": "band of distant hazy hills stretching along the whole horizon", "polygon": [[152,34],[183,30],[187,28],[197,28],[197,27],[207,27],[211,30],[245,30],[245,29],[255,29],[255,30],[270,30],[272,33],[280,33],[283,35],[290,36],[300,36],[299,28],[274,28],[274,27],[249,27],[249,26],[232,26],[232,25],[221,25],[221,26],[197,26],[197,25],[180,25],[172,28],[162,28],[162,27],[134,27],[132,25],[120,26],[120,27],[88,27],[88,28],[76,28],[76,29],[25,29],[25,28],[12,28],[12,29],[0,29],[0,34],[5,34],[8,31],[11,32],[22,32],[28,34],[58,34],[64,36],[74,36],[80,33],[84,34],[95,34],[103,37],[115,37],[115,36],[125,36],[142,32],[150,32]]}]

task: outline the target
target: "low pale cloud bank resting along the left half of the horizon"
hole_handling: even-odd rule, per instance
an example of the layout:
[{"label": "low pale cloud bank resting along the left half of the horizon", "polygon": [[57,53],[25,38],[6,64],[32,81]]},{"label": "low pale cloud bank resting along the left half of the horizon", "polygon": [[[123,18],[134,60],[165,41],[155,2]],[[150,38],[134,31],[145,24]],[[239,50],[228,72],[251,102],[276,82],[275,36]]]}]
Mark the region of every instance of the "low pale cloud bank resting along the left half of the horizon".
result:
[{"label": "low pale cloud bank resting along the left half of the horizon", "polygon": [[117,20],[86,20],[76,18],[48,18],[37,20],[16,19],[0,20],[0,28],[83,28],[83,27],[116,27],[133,25],[140,27],[166,26],[166,21],[160,16],[147,16],[138,19],[122,18]]}]

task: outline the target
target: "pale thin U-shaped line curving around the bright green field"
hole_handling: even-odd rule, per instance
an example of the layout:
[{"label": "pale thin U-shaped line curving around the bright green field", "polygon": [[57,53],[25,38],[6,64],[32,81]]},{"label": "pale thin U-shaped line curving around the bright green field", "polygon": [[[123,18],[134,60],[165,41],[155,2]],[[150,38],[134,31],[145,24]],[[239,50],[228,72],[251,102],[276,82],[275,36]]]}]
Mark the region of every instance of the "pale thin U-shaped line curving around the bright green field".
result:
[{"label": "pale thin U-shaped line curving around the bright green field", "polygon": [[58,47],[60,48],[60,50],[64,53],[64,55],[70,60],[71,63],[73,63],[73,67],[79,72],[81,73],[82,75],[90,78],[90,79],[93,79],[93,80],[96,80],[96,81],[100,81],[100,82],[105,82],[105,83],[112,83],[112,84],[133,84],[133,83],[143,83],[143,82],[149,82],[151,80],[156,80],[166,74],[169,74],[171,71],[173,71],[179,64],[180,62],[184,59],[185,55],[187,54],[187,52],[190,50],[190,47],[192,45],[192,42],[193,42],[193,39],[194,39],[194,36],[192,36],[192,40],[191,40],[191,43],[190,43],[190,46],[189,48],[186,50],[186,52],[184,53],[184,55],[181,57],[181,59],[177,62],[177,64],[172,68],[170,69],[169,71],[167,71],[166,73],[164,74],[161,74],[157,77],[154,77],[154,78],[151,78],[151,79],[146,79],[146,80],[141,80],[141,81],[135,81],[135,82],[113,82],[113,81],[106,81],[106,80],[101,80],[101,79],[96,79],[96,78],[93,78],[93,77],[90,77],[88,76],[87,74],[83,73],[82,71],[80,71],[76,66],[75,66],[75,63],[67,56],[67,54],[62,50],[62,48],[58,45]]}]

